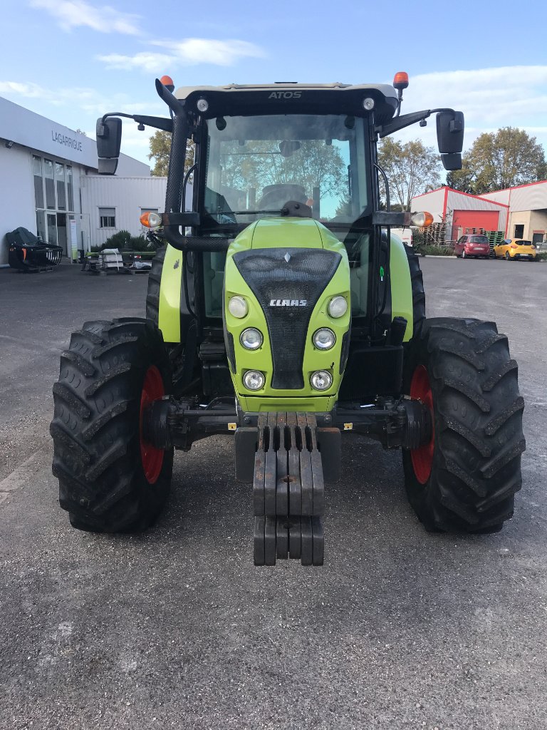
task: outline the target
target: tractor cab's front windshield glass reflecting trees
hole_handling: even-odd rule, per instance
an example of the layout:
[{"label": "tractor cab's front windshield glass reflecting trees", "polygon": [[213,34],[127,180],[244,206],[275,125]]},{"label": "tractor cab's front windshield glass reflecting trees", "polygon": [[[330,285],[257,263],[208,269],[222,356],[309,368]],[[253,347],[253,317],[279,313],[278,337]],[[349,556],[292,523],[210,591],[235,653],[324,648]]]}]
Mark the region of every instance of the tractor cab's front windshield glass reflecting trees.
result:
[{"label": "tractor cab's front windshield glass reflecting trees", "polygon": [[281,215],[288,201],[350,224],[368,206],[365,123],[347,115],[220,117],[207,121],[203,205],[217,223]]}]

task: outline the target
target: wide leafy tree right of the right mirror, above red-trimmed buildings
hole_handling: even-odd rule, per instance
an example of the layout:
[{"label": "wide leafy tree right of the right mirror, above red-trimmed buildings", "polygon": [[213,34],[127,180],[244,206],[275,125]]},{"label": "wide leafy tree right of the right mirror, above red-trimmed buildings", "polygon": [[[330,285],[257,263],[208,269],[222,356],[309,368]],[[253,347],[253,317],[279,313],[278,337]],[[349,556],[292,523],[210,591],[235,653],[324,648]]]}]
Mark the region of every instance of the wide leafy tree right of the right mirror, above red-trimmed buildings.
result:
[{"label": "wide leafy tree right of the right mirror, above red-trimmed buildings", "polygon": [[479,135],[463,155],[462,169],[447,175],[451,187],[465,193],[491,193],[545,180],[543,147],[524,129],[503,127]]}]

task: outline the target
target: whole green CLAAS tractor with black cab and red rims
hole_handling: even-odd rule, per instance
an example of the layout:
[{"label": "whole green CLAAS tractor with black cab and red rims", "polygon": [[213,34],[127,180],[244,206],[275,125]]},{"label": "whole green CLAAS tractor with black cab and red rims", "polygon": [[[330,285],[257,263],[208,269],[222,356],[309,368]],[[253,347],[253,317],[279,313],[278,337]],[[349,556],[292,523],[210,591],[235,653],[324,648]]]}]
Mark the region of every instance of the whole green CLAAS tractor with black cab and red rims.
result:
[{"label": "whole green CLAAS tractor with black cab and red rims", "polygon": [[[390,232],[431,217],[390,210],[379,138],[436,112],[443,164],[461,166],[462,113],[400,115],[407,85],[401,73],[393,86],[174,93],[156,80],[168,117],[131,115],[172,133],[166,212],[146,221],[166,242],[147,318],[86,322],[53,388],[53,474],[74,527],[146,529],[174,449],[213,434],[233,435],[236,477],[252,483],[256,565],[323,563],[342,433],[402,450],[427,530],[484,533],[511,518],[524,402],[507,338],[492,322],[426,319],[418,258]],[[97,123],[104,174],[123,116]]]}]

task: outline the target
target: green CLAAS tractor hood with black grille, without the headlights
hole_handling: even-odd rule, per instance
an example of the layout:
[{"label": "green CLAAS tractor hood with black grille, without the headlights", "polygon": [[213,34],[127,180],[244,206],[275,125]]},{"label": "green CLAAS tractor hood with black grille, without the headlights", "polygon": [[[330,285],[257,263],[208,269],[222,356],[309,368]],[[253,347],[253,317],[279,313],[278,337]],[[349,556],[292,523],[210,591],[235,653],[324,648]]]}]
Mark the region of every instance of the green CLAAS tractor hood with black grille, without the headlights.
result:
[{"label": "green CLAAS tractor hood with black grille, without the headlights", "polygon": [[[338,318],[328,311],[335,296],[347,304]],[[243,316],[230,311],[233,297],[244,300]],[[321,223],[265,218],[243,231],[228,250],[224,311],[226,350],[243,410],[330,410],[347,358],[349,304],[346,250]],[[244,346],[249,328],[263,338],[255,350]],[[314,345],[314,333],[322,328],[335,340],[326,350]],[[244,385],[249,370],[263,374],[257,392]],[[332,378],[325,391],[311,385],[317,371]]]}]

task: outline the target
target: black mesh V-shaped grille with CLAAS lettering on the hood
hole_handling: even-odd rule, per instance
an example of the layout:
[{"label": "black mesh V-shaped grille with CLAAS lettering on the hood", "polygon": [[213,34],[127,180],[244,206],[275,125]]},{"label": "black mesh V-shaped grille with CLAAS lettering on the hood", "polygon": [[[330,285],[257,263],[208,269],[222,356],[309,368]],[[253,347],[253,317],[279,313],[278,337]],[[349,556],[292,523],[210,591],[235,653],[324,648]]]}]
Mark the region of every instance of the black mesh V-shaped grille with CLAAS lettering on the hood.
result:
[{"label": "black mesh V-shaped grille with CLAAS lettering on the hood", "polygon": [[315,248],[263,248],[233,256],[268,324],[272,388],[304,387],[302,364],[311,312],[341,258],[339,253]]}]

